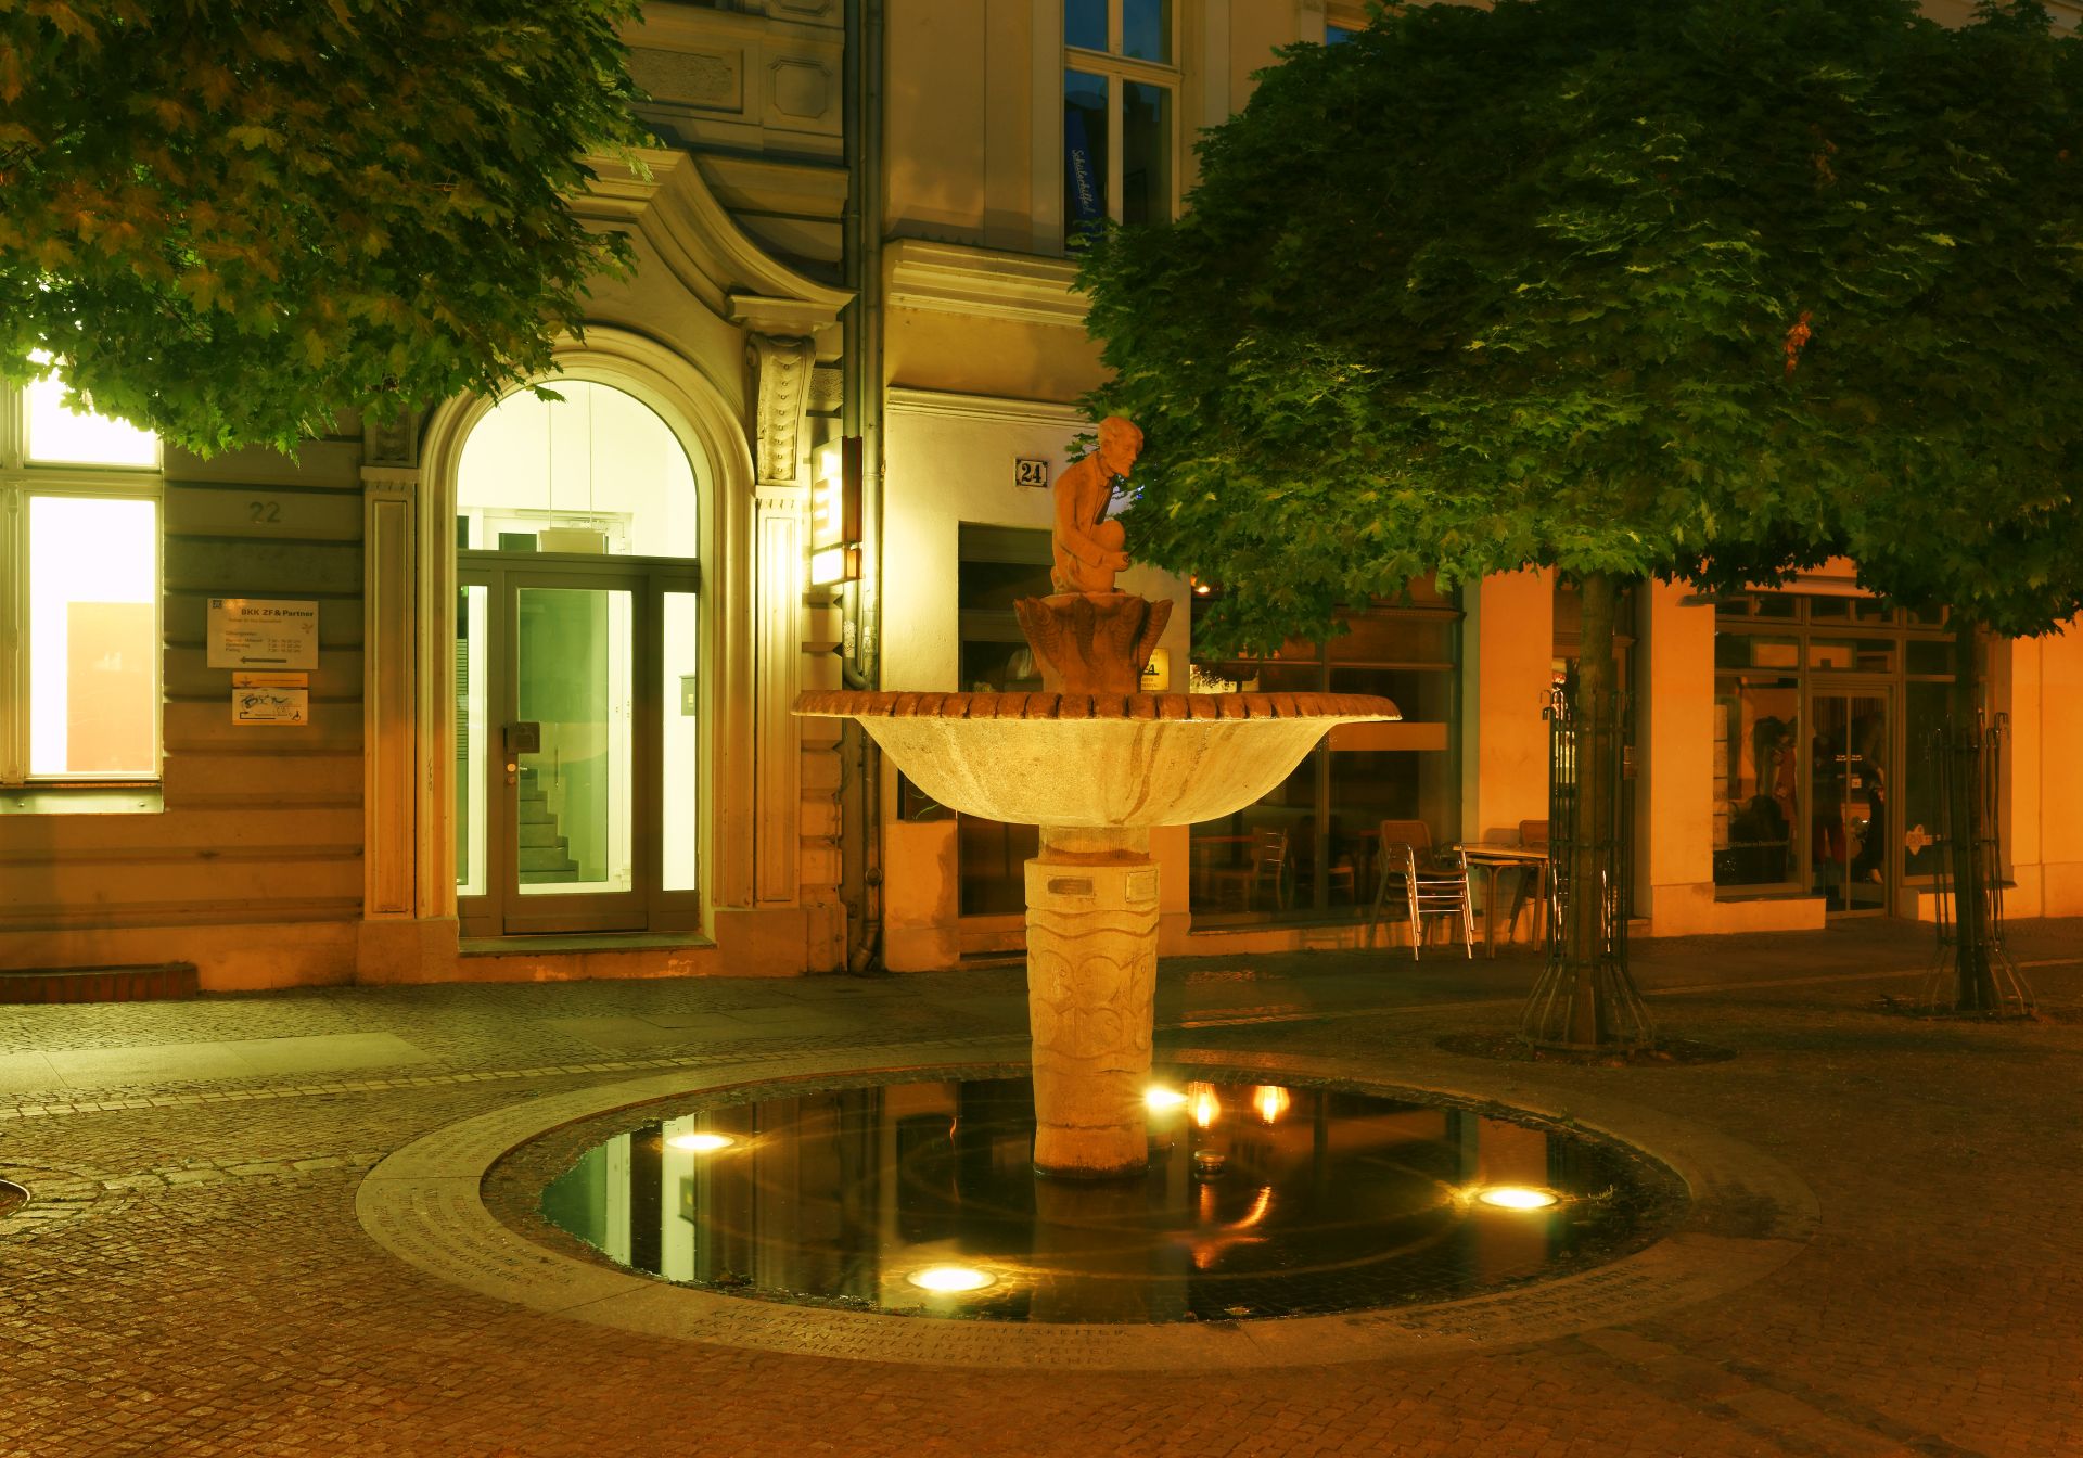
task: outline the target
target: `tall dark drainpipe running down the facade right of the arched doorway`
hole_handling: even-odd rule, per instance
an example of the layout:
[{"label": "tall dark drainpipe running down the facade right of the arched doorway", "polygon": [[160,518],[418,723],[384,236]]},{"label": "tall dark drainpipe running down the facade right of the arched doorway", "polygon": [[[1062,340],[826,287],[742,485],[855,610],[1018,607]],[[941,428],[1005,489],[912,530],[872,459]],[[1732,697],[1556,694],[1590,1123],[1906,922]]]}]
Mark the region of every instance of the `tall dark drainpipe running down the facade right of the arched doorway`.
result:
[{"label": "tall dark drainpipe running down the facade right of the arched doorway", "polygon": [[[883,627],[883,0],[846,6],[846,308],[844,429],[860,437],[860,581],[850,583],[839,633],[839,677],[850,689],[881,679]],[[846,971],[881,971],[883,960],[883,762],[858,723],[852,735],[852,814],[842,833],[858,835],[858,862],[848,858],[842,900],[852,946]],[[858,869],[856,869],[858,866]]]}]

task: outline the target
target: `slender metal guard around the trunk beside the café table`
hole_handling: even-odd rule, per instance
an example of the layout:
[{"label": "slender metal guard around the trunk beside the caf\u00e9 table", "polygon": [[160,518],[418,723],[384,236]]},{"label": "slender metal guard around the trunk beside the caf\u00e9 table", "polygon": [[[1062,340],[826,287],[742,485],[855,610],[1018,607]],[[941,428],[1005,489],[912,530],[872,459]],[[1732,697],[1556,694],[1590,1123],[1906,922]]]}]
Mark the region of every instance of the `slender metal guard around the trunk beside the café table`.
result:
[{"label": "slender metal guard around the trunk beside the caf\u00e9 table", "polygon": [[[1604,723],[1591,725],[1556,687],[1548,721],[1548,966],[1533,985],[1521,1035],[1537,1048],[1627,1052],[1656,1041],[1650,1010],[1627,971],[1627,833],[1633,781],[1627,779],[1629,702],[1614,694]],[[1604,781],[1606,814],[1591,814]],[[1575,887],[1591,885],[1589,906]]]}]

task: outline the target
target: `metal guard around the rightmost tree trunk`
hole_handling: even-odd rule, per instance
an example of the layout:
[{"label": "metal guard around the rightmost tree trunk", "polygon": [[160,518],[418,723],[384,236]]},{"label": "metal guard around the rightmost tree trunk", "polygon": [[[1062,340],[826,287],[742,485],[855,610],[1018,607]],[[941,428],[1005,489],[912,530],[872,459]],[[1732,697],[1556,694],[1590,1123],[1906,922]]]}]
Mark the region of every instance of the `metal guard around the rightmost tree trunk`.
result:
[{"label": "metal guard around the rightmost tree trunk", "polygon": [[[2004,948],[2004,852],[1998,791],[2008,727],[2010,714],[1998,714],[1989,725],[1983,725],[1981,714],[1977,714],[1973,725],[1954,727],[1948,723],[1931,735],[1929,754],[1939,787],[1939,846],[1943,854],[1937,862],[1939,956],[1918,996],[1918,1006],[1925,1012],[1964,1012],[1989,1019],[2033,1016],[2033,989],[2027,987]],[[1966,837],[1968,844],[1962,848],[1956,837]]]}]

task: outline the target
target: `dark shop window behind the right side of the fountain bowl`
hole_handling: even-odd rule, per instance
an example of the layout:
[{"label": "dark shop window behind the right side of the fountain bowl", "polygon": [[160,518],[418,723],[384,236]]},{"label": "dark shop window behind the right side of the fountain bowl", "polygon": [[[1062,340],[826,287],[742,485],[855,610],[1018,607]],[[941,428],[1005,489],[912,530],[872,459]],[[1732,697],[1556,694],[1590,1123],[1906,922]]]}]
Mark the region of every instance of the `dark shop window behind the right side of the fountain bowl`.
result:
[{"label": "dark shop window behind the right side of the fountain bowl", "polygon": [[[1206,598],[1196,598],[1196,612]],[[1191,827],[1189,906],[1198,925],[1327,921],[1366,910],[1383,821],[1423,821],[1433,844],[1460,835],[1458,610],[1412,585],[1404,604],[1339,612],[1325,646],[1271,658],[1196,658],[1194,692],[1379,694],[1402,723],[1346,725],[1262,800]]]}]

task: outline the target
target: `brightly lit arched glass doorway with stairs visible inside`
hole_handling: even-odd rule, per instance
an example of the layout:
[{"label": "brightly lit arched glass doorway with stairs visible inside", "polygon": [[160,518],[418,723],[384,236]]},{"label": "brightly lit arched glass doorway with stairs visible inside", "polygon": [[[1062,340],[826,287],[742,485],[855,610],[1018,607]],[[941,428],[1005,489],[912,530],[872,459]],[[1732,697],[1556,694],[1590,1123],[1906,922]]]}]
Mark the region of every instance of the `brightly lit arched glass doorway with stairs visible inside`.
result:
[{"label": "brightly lit arched glass doorway with stairs visible inside", "polygon": [[704,471],[594,379],[487,410],[456,473],[465,935],[700,925]]}]

